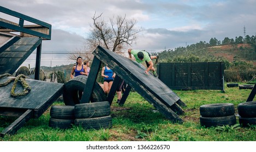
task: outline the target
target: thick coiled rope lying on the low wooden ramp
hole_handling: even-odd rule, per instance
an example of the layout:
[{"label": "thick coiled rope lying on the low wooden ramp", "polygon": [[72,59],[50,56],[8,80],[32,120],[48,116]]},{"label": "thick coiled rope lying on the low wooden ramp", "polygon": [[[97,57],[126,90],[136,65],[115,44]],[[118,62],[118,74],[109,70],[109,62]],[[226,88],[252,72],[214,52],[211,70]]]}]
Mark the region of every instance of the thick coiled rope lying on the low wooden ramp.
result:
[{"label": "thick coiled rope lying on the low wooden ramp", "polygon": [[[9,74],[9,73],[5,73],[0,75],[0,79],[4,78],[4,77],[12,77],[13,75]],[[7,86],[9,83],[11,83],[12,81],[14,81],[13,83],[13,87],[11,87],[11,97],[20,97],[20,96],[25,96],[26,94],[29,93],[29,91],[31,91],[31,87],[27,84],[26,80],[25,80],[26,76],[24,74],[19,74],[17,75],[16,78],[11,78],[9,80],[7,80],[4,83],[0,83],[0,87],[2,86]],[[23,86],[24,90],[20,93],[15,93],[15,88],[17,86],[17,82],[20,82],[21,85]]]}]

